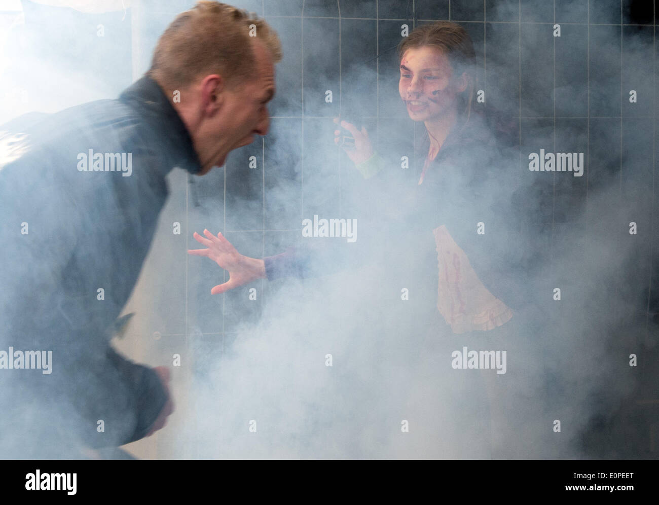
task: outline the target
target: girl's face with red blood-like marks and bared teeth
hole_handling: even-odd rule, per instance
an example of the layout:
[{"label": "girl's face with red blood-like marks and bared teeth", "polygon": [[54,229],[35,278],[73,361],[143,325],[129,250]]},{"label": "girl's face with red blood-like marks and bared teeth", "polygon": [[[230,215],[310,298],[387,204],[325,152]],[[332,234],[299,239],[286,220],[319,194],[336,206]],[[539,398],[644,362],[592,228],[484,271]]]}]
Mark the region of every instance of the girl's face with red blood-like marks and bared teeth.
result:
[{"label": "girl's face with red blood-like marks and bared teeth", "polygon": [[467,84],[465,74],[453,75],[448,57],[436,47],[407,49],[401,58],[398,91],[414,121],[433,121],[451,113]]}]

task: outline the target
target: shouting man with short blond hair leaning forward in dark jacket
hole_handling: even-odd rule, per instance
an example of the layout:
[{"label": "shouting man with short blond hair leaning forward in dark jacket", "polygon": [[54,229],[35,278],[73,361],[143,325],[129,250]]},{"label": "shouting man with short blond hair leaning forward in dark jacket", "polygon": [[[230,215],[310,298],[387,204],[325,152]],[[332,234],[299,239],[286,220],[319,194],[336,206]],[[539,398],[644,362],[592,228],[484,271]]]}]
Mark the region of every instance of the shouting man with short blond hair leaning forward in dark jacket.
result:
[{"label": "shouting man with short blond hair leaning forward in dark jacket", "polygon": [[[0,458],[80,458],[163,427],[169,372],[119,355],[111,328],[150,248],[165,175],[204,175],[268,132],[280,59],[264,20],[200,1],[119,99],[0,126]],[[44,358],[40,370],[28,353]]]}]

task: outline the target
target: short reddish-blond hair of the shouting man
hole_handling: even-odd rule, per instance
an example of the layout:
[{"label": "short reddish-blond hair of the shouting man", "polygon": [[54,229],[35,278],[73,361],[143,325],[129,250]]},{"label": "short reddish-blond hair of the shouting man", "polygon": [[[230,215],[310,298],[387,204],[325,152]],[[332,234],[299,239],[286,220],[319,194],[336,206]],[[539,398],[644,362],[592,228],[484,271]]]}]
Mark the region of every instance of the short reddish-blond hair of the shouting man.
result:
[{"label": "short reddish-blond hair of the shouting man", "polygon": [[[254,30],[256,37],[250,37]],[[147,74],[169,90],[214,73],[236,86],[253,76],[254,38],[266,45],[274,63],[281,61],[281,43],[265,20],[225,3],[198,1],[160,36]]]}]

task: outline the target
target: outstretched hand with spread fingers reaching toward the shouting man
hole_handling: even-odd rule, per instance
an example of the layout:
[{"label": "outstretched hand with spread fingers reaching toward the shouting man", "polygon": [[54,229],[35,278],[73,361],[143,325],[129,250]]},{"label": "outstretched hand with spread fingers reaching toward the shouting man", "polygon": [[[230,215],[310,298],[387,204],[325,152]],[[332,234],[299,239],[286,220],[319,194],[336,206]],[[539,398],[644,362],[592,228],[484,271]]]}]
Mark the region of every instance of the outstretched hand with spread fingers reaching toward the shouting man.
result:
[{"label": "outstretched hand with spread fingers reaching toward the shouting man", "polygon": [[217,237],[215,237],[210,231],[204,229],[204,235],[207,238],[204,239],[195,231],[192,236],[198,243],[205,245],[206,249],[188,249],[188,254],[207,256],[221,268],[229,271],[229,280],[216,285],[210,290],[210,294],[219,295],[229,289],[266,278],[266,265],[263,260],[243,256],[221,233],[217,233]]}]

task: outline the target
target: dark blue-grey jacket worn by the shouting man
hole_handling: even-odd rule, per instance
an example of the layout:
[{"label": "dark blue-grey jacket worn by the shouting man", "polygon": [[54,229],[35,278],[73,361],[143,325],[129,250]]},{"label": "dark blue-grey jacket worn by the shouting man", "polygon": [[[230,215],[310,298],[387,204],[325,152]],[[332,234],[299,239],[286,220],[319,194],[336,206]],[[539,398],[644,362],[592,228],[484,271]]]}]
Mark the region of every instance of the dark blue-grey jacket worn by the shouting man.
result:
[{"label": "dark blue-grey jacket worn by the shouting man", "polygon": [[[118,100],[0,126],[0,146],[0,351],[53,351],[51,374],[0,369],[0,458],[142,438],[167,395],[109,329],[150,247],[165,175],[200,170],[190,135],[145,76]],[[90,150],[130,153],[130,175],[80,171]]]}]

